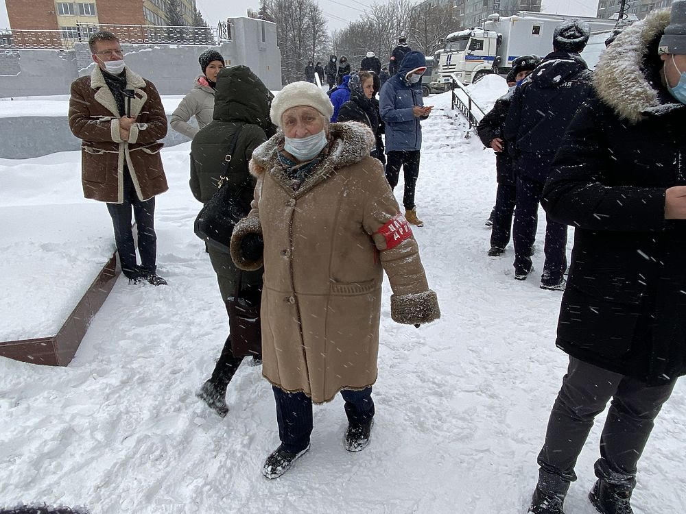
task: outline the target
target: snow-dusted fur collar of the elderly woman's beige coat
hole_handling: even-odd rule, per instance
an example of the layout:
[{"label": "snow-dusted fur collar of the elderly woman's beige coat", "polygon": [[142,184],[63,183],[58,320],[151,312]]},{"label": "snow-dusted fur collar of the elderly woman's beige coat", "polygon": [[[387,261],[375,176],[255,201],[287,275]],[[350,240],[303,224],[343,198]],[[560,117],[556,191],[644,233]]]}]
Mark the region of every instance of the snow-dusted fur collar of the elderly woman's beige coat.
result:
[{"label": "snow-dusted fur collar of the elderly woman's beige coat", "polygon": [[[276,135],[265,141],[252,152],[250,173],[256,177],[270,171],[277,182],[292,191],[291,179],[277,165],[279,148],[283,148],[284,136],[279,130]],[[369,156],[376,140],[369,127],[357,121],[331,123],[329,125],[329,145],[327,155],[319,162],[311,175],[303,182],[295,196],[300,196],[316,184],[326,179],[336,169],[350,166]]]}]

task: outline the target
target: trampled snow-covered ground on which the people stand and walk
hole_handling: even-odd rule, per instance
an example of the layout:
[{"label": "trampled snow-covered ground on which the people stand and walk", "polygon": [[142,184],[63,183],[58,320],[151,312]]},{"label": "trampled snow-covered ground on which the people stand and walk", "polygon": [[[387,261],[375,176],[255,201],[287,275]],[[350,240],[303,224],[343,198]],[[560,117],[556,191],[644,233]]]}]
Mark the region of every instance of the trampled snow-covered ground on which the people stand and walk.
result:
[{"label": "trampled snow-covered ground on which the people stand and walk", "polygon": [[[537,273],[515,281],[511,247],[501,258],[486,256],[495,158],[476,137],[464,137],[462,121],[442,115],[449,95],[426,103],[436,105],[424,123],[417,188],[426,225],[414,232],[442,319],[420,330],[393,323],[386,285],[368,449],[344,450],[338,398],[316,407],[310,452],[268,481],[259,470],[278,435],[259,368],[241,366],[225,419],[194,397],[228,323],[193,235],[199,204],[188,188],[185,144],[163,151],[170,191],[157,203],[159,272],[169,286],[120,279],[67,368],[0,358],[0,506],[86,505],[94,514],[524,513],[567,360],[554,345],[561,293],[539,289]],[[34,194],[23,205],[69,203],[60,196],[78,189],[54,181],[62,162],[78,168],[78,159],[23,161],[45,166],[43,180],[26,184]],[[53,278],[40,280],[50,291]],[[637,514],[686,512],[685,411],[681,382],[641,460]],[[580,456],[567,514],[595,512],[587,492],[603,419]]]}]

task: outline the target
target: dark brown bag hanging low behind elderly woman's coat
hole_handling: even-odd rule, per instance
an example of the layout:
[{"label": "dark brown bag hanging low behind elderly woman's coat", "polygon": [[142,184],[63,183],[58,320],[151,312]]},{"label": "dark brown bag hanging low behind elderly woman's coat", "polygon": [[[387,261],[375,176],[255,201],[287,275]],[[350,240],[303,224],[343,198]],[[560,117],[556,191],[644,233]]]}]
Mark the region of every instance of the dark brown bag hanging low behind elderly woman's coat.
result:
[{"label": "dark brown bag hanging low behind elderly woman's coat", "polygon": [[262,327],[260,306],[262,284],[242,289],[243,271],[238,272],[236,290],[226,299],[231,352],[234,357],[262,355]]}]

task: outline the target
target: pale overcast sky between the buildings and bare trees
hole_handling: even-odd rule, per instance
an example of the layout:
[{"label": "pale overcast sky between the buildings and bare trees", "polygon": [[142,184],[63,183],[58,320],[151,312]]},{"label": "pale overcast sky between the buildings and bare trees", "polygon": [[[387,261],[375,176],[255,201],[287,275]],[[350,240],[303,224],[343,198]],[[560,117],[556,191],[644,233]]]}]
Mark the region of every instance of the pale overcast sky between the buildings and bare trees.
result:
[{"label": "pale overcast sky between the buildings and bare trees", "polygon": [[[111,0],[110,0],[111,1]],[[377,0],[383,2],[383,0]],[[355,21],[364,5],[371,2],[366,0],[318,0],[324,16],[329,21],[329,29],[341,29],[349,21]],[[246,16],[248,8],[257,10],[259,0],[196,0],[198,9],[209,25],[217,21],[236,16]],[[227,5],[228,4],[228,5]],[[238,5],[240,4],[240,5]],[[576,14],[577,16],[595,16],[598,0],[543,0],[543,12],[557,14]],[[0,29],[9,27],[10,23],[5,9],[5,0],[0,0]]]}]

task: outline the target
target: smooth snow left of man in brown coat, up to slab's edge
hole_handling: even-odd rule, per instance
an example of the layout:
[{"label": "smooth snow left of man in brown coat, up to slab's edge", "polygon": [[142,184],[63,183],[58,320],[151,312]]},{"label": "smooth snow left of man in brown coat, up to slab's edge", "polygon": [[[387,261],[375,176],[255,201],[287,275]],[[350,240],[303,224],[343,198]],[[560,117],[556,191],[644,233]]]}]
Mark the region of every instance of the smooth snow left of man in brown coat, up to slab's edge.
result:
[{"label": "smooth snow left of man in brown coat, up to slab's edge", "polygon": [[107,210],[83,197],[80,160],[0,159],[0,341],[57,334],[115,252]]}]

